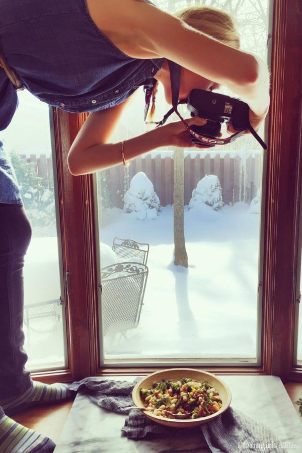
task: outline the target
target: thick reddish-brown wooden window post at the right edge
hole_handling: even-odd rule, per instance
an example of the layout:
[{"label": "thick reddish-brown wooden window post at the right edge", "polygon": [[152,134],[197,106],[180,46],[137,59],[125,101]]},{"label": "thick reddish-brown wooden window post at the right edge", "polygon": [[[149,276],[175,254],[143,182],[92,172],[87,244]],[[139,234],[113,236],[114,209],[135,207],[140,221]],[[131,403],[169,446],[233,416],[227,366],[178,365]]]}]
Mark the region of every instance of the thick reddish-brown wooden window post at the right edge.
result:
[{"label": "thick reddish-brown wooden window post at the right edge", "polygon": [[302,381],[293,366],[300,272],[302,10],[274,1],[264,239],[262,359],[267,374]]}]

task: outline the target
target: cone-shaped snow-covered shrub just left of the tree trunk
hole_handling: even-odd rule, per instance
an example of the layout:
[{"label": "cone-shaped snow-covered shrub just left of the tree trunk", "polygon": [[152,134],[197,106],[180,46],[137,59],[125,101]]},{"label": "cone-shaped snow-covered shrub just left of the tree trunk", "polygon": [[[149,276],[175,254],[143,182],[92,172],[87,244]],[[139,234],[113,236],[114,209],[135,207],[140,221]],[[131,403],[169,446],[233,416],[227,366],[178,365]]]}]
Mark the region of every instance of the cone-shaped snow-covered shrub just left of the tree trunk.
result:
[{"label": "cone-shaped snow-covered shrub just left of the tree trunk", "polygon": [[124,211],[135,212],[138,220],[154,219],[160,211],[160,199],[152,182],[143,172],[136,173],[124,195]]}]

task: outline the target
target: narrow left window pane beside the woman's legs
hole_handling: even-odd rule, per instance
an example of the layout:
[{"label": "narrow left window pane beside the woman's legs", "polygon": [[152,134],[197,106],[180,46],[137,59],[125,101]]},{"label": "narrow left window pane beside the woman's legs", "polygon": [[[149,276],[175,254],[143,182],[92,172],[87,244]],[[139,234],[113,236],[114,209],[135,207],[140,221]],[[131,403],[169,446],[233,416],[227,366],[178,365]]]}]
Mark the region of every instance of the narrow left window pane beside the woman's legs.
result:
[{"label": "narrow left window pane beside the woman's legs", "polygon": [[13,121],[1,134],[32,226],[32,239],[24,266],[24,347],[28,353],[27,366],[31,370],[65,368],[48,106],[28,92],[20,92]]}]

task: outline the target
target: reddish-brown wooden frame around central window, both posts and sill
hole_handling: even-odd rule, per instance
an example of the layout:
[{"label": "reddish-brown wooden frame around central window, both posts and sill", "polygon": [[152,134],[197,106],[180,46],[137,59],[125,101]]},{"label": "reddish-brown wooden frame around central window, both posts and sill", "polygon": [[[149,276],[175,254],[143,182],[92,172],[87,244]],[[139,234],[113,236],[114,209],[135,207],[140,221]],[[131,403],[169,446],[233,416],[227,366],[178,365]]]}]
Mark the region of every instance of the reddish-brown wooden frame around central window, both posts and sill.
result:
[{"label": "reddish-brown wooden frame around central window, both posts and sill", "polygon": [[[300,0],[274,0],[263,228],[261,365],[206,367],[216,373],[273,374],[284,382],[302,381],[302,369],[294,367],[292,359],[295,282],[300,271],[301,22]],[[134,375],[155,369],[152,366],[100,368],[93,177],[72,177],[66,163],[70,143],[86,117],[86,114],[53,109],[63,271],[70,277],[70,289],[65,285],[64,294],[69,367],[59,372],[36,373],[45,382],[68,382],[108,373]]]}]

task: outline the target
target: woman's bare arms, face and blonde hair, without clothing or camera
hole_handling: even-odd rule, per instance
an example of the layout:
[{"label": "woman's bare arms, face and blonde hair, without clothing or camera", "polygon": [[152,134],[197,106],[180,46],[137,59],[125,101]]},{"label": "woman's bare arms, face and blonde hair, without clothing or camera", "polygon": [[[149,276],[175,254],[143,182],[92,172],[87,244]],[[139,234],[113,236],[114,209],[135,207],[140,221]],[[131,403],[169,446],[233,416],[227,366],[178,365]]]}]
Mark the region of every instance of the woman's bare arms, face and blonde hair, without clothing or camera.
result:
[{"label": "woman's bare arms, face and blonde hair, without clothing or camera", "polygon": [[[170,59],[182,66],[180,99],[187,98],[193,88],[213,90],[225,85],[249,105],[251,125],[256,130],[259,128],[269,106],[267,67],[257,57],[238,50],[239,39],[228,15],[196,7],[188,8],[176,18],[133,0],[128,0],[123,10],[115,15],[106,2],[105,11],[102,8],[100,13],[99,3],[98,0],[88,1],[90,14],[119,50],[139,59],[164,58],[154,78],[163,84],[168,103],[171,104],[167,63]],[[115,23],[120,22],[123,27],[116,30]],[[154,24],[157,24],[156,30]],[[198,33],[197,29],[202,32]],[[131,30],[131,34],[127,30]],[[158,63],[159,60],[153,61]],[[159,146],[192,146],[191,136],[180,122],[154,129],[126,143],[108,143],[126,105],[124,101],[89,116],[69,151],[68,166],[73,175],[100,170],[121,160],[125,163]],[[204,124],[196,117],[186,122]],[[229,131],[235,132],[231,124]]]}]

